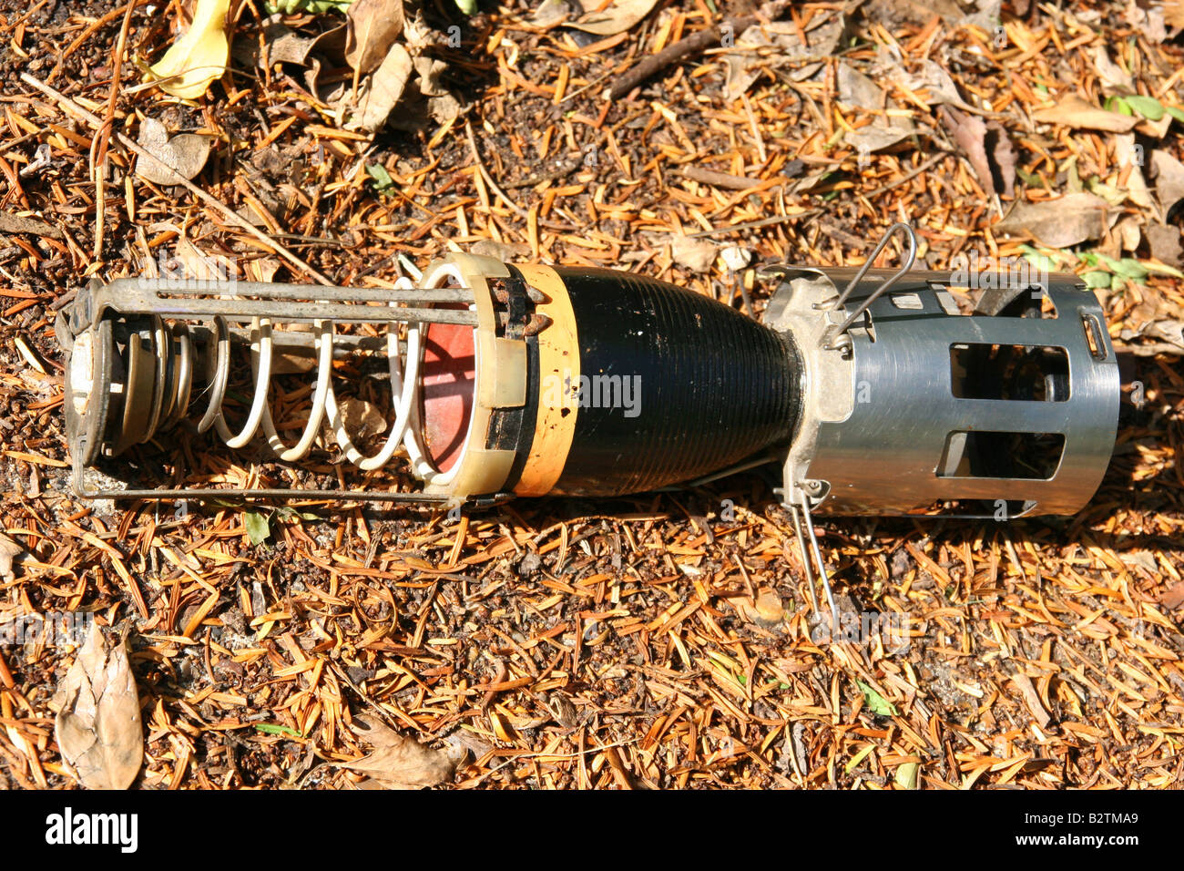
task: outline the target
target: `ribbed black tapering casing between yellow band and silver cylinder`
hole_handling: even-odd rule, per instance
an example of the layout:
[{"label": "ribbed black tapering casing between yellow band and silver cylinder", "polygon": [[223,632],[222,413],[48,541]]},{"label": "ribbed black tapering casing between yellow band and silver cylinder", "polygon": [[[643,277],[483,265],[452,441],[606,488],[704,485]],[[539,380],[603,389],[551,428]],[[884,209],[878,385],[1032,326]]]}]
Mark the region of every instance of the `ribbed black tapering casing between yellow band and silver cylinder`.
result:
[{"label": "ribbed black tapering casing between yellow band and silver cylinder", "polygon": [[787,337],[674,284],[556,268],[580,373],[639,376],[639,414],[580,408],[556,492],[619,495],[689,481],[787,443],[800,366]]}]

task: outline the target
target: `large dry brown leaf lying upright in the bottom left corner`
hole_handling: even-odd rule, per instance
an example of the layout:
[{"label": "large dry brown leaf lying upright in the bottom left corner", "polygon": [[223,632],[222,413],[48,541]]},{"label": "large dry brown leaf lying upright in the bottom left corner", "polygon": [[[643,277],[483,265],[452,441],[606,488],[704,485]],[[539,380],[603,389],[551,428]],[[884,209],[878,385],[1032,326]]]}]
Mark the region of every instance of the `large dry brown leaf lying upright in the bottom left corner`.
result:
[{"label": "large dry brown leaf lying upright in the bottom left corner", "polygon": [[62,758],[89,789],[127,789],[143,762],[140,698],[122,640],[91,625],[50,706]]}]

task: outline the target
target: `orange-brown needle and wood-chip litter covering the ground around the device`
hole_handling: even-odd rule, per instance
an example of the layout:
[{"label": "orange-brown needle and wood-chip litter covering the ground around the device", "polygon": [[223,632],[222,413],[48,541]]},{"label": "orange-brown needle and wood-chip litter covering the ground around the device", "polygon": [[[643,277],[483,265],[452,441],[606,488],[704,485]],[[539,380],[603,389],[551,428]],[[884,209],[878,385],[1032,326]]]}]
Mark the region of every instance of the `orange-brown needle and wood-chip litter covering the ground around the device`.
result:
[{"label": "orange-brown needle and wood-chip litter covering the ground around the device", "polygon": [[[1184,103],[1179,40],[1148,38],[1121,4],[1089,6],[1101,12],[1005,6],[1002,40],[908,2],[807,2],[789,20],[809,41],[845,8],[836,53],[857,66],[877,45],[906,71],[940,60],[1010,136],[1015,198],[1038,201],[1089,179],[1103,192],[1128,184],[1114,134],[1030,117],[1044,95],[1101,98],[1098,49],[1146,95]],[[160,56],[175,7],[127,17],[111,103],[124,5],[0,4],[0,525],[27,550],[0,579],[0,623],[88,611],[128,634],[146,728],[139,786],[348,787],[359,775],[328,763],[367,751],[349,728],[362,713],[466,749],[455,788],[1184,784],[1184,377],[1178,354],[1135,353],[1150,324],[1184,306],[1166,273],[1101,293],[1130,352],[1125,380],[1146,402],[1124,403],[1114,460],[1080,515],[819,520],[841,606],[903,615],[907,643],[810,640],[790,518],[754,474],[516,501],[457,523],[309,500],[275,511],[258,545],[233,507],[178,515],[72,497],[53,340],[71,292],[182,245],[251,277],[311,280],[191,191],[128,174],[133,155],[112,134],[135,140],[144,116],[215,136],[194,182],[340,283],[388,284],[395,252],[423,265],[480,243],[520,262],[636,269],[738,308],[749,290],[759,313],[768,287],[720,260],[688,269],[671,235],[758,262],[844,265],[907,219],[931,267],[972,249],[1025,254],[992,233],[1012,199],[997,207],[932,94],[877,79],[895,109],[849,107],[835,56],[778,65],[776,51],[741,49],[757,78],[726,98],[728,49],[701,47],[606,98],[643,58],[746,8],[659,2],[629,32],[581,45],[532,25],[521,2],[489,6],[462,20],[464,49],[446,56],[465,113],[371,141],[290,65],[236,60],[194,104],[141,88],[131,58]],[[236,40],[258,39],[260,15],[245,4]],[[799,77],[810,64],[817,75]],[[96,135],[21,72],[110,128]],[[845,133],[888,116],[913,133],[861,159]],[[1179,158],[1179,127],[1146,147]],[[47,162],[22,172],[43,146]],[[390,188],[366,171],[375,165]],[[1120,209],[1139,226],[1167,217]],[[1118,244],[1096,241],[1115,258]],[[219,469],[258,473],[252,459]],[[72,659],[69,646],[0,646],[0,784],[77,786],[47,706]]]}]

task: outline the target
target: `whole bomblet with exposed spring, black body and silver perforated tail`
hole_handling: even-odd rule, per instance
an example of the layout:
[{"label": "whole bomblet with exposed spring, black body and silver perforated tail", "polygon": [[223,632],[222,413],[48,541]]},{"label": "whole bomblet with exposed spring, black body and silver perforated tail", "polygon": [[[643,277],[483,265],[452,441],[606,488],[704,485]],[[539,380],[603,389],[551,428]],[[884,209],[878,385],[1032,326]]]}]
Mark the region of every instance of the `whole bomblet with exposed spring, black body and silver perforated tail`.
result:
[{"label": "whole bomblet with exposed spring, black body and silver perforated tail", "polygon": [[[907,242],[896,271],[766,269],[777,287],[760,322],[625,271],[465,254],[393,288],[92,282],[56,325],[75,487],[457,505],[613,497],[778,463],[778,495],[810,530],[811,512],[1076,512],[1118,421],[1096,299],[1053,275],[1000,281],[964,310],[955,276],[912,270],[907,225],[875,254],[894,232]],[[380,360],[390,397],[387,428],[368,440],[342,398],[355,356]],[[291,358],[307,364],[308,398],[277,416],[272,383]],[[166,478],[159,461],[144,480],[162,455],[149,446],[185,441],[170,429],[213,430],[290,467],[352,463],[362,483],[233,487],[191,479],[173,450],[175,486],[144,486]],[[92,485],[90,467],[118,476],[121,462],[136,486]]]}]

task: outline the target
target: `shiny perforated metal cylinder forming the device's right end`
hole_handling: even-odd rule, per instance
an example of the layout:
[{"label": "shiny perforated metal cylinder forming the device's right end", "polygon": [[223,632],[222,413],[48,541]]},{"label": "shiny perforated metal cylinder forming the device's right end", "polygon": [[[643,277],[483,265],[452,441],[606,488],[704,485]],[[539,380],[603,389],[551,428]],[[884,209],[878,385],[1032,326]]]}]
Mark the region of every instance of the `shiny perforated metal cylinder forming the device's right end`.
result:
[{"label": "shiny perforated metal cylinder forming the device's right end", "polygon": [[1120,396],[1093,293],[1073,275],[1012,289],[989,276],[964,313],[950,274],[910,273],[829,350],[887,275],[830,312],[852,271],[793,270],[766,312],[804,364],[787,498],[837,514],[1077,512],[1109,462]]}]

